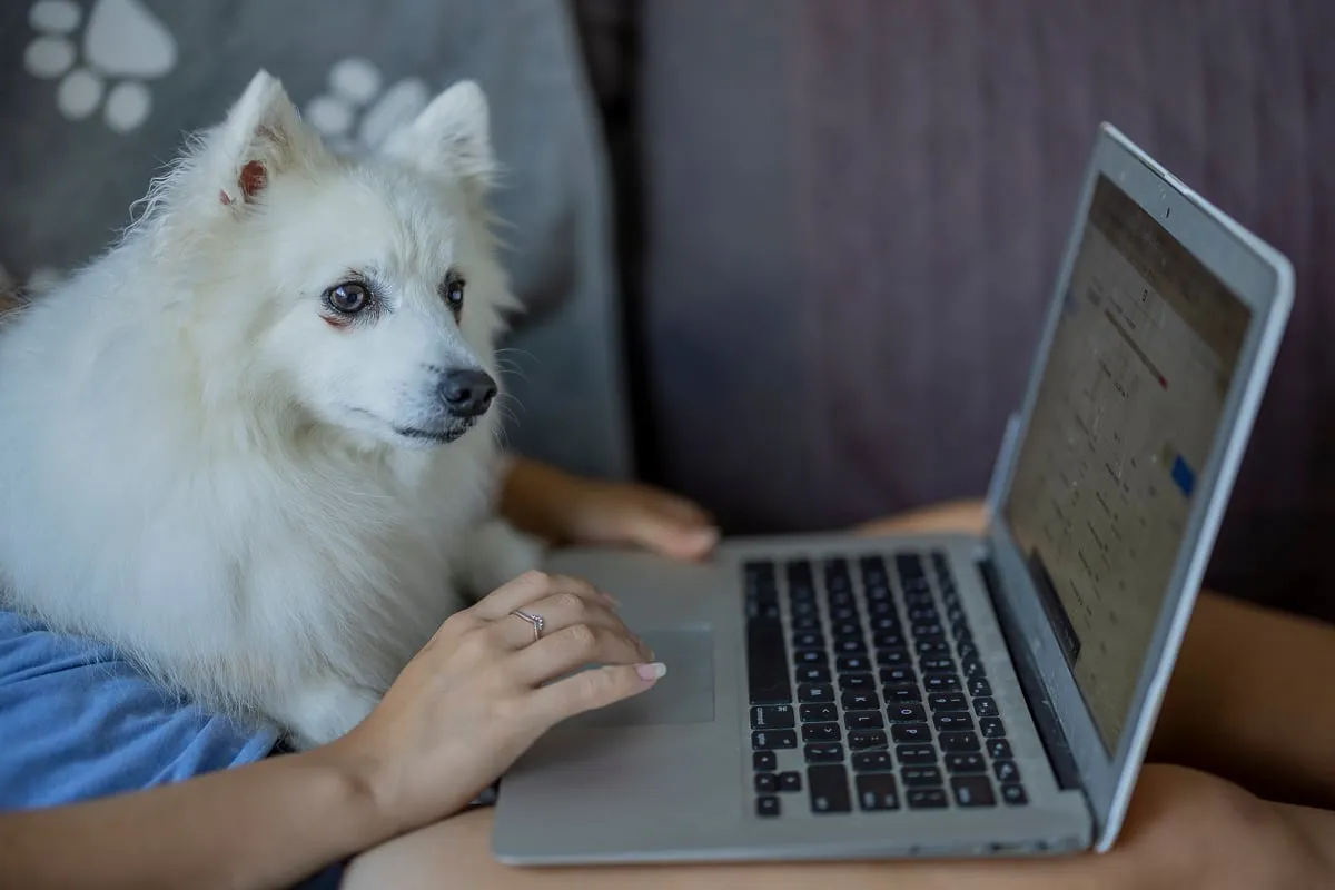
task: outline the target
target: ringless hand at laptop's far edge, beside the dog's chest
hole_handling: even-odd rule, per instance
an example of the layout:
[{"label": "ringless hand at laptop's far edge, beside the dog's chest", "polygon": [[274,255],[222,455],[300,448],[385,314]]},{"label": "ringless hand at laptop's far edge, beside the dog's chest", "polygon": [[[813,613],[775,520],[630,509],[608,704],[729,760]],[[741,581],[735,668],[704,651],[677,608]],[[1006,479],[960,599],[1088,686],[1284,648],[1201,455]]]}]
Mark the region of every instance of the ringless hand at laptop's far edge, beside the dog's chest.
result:
[{"label": "ringless hand at laptop's far edge, beside the dog's chest", "polygon": [[702,559],[718,528],[701,507],[638,483],[581,479],[517,460],[502,512],[519,528],[557,544],[631,544],[673,559]]}]

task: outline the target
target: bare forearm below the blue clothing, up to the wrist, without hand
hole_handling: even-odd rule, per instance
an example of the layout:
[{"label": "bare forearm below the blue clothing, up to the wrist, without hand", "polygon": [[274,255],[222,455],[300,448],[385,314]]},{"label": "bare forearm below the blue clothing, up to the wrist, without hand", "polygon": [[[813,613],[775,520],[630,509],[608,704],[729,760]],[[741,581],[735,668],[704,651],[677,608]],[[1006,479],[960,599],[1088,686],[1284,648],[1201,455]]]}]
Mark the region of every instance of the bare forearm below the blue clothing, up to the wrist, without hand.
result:
[{"label": "bare forearm below the blue clothing, up to the wrist, without hand", "polygon": [[343,753],[323,749],[132,795],[0,815],[0,883],[280,887],[392,833]]}]

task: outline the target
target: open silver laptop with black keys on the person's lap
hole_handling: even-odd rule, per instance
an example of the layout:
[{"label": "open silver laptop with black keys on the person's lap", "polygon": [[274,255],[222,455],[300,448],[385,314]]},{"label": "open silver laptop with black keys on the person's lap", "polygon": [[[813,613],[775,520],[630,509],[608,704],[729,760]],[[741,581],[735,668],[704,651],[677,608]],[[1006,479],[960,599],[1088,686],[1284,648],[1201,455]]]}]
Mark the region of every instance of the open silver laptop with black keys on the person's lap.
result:
[{"label": "open silver laptop with black keys on the person's lap", "polygon": [[514,766],[495,857],[1107,850],[1291,300],[1283,256],[1100,128],[985,534],[555,554],[668,675]]}]

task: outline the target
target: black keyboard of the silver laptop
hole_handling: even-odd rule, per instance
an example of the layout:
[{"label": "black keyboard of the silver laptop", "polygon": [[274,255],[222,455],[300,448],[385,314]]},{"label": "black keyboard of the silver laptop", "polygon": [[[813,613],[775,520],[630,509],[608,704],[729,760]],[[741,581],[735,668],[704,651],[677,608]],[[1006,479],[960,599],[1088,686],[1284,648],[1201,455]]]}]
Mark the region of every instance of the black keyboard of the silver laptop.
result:
[{"label": "black keyboard of the silver laptop", "polygon": [[1028,803],[944,552],[742,574],[758,817]]}]

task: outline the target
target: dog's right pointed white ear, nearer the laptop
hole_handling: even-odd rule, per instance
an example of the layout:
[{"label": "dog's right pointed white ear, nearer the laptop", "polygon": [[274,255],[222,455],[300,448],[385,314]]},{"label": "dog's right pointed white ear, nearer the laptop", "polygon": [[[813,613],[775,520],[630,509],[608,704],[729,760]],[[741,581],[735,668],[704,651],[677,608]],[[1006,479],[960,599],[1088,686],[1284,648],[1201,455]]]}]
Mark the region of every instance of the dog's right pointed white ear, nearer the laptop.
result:
[{"label": "dog's right pointed white ear, nearer the laptop", "polygon": [[384,140],[384,153],[422,172],[443,175],[485,191],[497,171],[491,153],[487,99],[473,80],[461,80],[422,113]]}]

